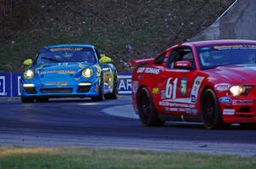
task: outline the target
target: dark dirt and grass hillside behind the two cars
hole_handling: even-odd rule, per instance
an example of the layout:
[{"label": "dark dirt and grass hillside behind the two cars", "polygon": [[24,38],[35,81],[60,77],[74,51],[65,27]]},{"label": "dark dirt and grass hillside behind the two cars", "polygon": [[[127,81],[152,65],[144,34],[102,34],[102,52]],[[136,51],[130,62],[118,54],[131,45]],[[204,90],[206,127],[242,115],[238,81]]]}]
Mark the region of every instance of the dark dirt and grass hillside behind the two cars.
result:
[{"label": "dark dirt and grass hillside behind the two cars", "polygon": [[118,70],[186,42],[234,0],[0,0],[0,72],[20,72],[39,48],[95,44]]}]

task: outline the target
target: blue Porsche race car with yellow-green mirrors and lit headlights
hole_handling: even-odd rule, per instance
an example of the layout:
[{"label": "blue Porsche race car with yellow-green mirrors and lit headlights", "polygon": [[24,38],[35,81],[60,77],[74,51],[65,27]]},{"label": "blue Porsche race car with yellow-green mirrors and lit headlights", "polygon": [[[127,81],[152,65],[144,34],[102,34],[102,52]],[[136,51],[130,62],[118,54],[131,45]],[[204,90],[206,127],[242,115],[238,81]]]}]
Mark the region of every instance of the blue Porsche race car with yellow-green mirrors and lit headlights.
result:
[{"label": "blue Porsche race car with yellow-green mirrors and lit headlights", "polygon": [[23,65],[27,67],[20,80],[23,103],[64,97],[117,99],[117,70],[93,45],[47,46]]}]

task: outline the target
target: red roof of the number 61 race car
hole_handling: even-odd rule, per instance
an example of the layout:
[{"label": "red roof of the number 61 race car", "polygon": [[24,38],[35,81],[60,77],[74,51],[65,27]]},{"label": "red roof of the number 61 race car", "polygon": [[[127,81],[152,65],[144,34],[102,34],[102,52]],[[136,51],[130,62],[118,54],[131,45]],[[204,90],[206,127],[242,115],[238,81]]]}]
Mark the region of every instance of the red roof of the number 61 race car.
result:
[{"label": "red roof of the number 61 race car", "polygon": [[255,43],[252,40],[237,40],[237,39],[225,39],[225,40],[211,40],[211,41],[198,41],[198,42],[184,42],[183,45],[194,45],[195,47],[207,46],[207,45],[219,45],[219,44],[234,44],[234,43]]}]

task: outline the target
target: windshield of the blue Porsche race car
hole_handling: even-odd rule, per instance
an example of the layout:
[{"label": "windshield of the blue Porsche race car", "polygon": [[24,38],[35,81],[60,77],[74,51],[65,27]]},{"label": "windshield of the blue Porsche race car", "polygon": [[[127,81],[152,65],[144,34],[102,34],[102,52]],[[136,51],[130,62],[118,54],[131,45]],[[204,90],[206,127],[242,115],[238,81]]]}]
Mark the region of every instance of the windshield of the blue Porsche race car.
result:
[{"label": "windshield of the blue Porsche race car", "polygon": [[42,49],[36,59],[36,64],[87,62],[96,63],[93,48],[47,48]]}]

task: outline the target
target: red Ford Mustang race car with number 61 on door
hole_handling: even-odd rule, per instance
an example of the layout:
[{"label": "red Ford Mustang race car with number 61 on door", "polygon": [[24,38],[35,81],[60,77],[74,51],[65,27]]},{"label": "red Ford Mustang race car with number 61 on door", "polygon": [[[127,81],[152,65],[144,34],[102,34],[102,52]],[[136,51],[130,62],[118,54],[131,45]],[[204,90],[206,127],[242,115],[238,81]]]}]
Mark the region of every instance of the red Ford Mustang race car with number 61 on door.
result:
[{"label": "red Ford Mustang race car with number 61 on door", "polygon": [[144,126],[256,124],[256,41],[185,42],[131,65],[132,104]]}]

